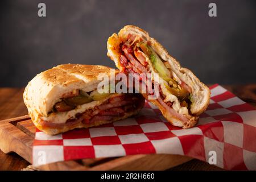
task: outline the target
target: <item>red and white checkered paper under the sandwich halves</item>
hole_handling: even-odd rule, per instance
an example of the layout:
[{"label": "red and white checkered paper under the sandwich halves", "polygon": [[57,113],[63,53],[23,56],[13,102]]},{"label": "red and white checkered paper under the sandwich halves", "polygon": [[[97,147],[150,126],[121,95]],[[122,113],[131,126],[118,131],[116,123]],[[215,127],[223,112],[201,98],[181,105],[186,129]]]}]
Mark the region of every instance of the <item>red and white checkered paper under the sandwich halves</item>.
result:
[{"label": "red and white checkered paper under the sandwich halves", "polygon": [[208,162],[216,152],[224,169],[256,169],[256,110],[220,85],[210,87],[208,109],[191,129],[164,119],[150,102],[123,121],[49,136],[36,131],[33,164],[133,154],[179,154]]}]

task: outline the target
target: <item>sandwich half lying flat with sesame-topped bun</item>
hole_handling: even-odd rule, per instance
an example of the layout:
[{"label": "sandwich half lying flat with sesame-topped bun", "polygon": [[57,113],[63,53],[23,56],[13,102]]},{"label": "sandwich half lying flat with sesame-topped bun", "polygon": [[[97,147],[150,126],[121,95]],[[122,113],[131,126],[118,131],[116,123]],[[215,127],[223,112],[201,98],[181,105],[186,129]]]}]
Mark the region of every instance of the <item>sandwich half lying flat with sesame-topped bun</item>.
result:
[{"label": "sandwich half lying flat with sesame-topped bun", "polygon": [[144,105],[141,94],[99,93],[100,73],[110,76],[109,67],[64,64],[36,75],[24,91],[35,126],[55,135],[125,119]]}]

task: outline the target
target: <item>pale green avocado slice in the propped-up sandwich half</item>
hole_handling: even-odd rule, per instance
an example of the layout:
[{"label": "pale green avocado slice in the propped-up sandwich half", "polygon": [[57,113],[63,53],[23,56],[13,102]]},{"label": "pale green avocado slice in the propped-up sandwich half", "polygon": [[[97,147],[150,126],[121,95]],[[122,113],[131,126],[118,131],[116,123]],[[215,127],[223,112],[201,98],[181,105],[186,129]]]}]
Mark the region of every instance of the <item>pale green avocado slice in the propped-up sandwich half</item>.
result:
[{"label": "pale green avocado slice in the propped-up sandwich half", "polygon": [[148,57],[150,57],[150,61],[155,70],[159,73],[159,76],[163,78],[163,80],[169,82],[171,80],[171,72],[166,68],[166,65],[164,65],[163,61],[156,54],[156,52],[146,43],[141,43],[139,46],[141,47],[142,51],[146,53]]}]

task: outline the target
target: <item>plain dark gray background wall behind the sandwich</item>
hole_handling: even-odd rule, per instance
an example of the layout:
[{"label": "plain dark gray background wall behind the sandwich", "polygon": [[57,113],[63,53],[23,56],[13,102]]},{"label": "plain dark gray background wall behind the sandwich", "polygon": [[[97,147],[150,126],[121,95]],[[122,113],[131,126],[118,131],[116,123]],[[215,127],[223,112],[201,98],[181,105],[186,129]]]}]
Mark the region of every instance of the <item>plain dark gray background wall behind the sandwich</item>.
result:
[{"label": "plain dark gray background wall behind the sandwich", "polygon": [[[38,17],[38,3],[47,17]],[[217,17],[208,16],[210,2]],[[148,31],[168,52],[212,84],[255,82],[256,1],[0,2],[0,86],[25,86],[58,64],[101,64],[106,41],[126,24]]]}]

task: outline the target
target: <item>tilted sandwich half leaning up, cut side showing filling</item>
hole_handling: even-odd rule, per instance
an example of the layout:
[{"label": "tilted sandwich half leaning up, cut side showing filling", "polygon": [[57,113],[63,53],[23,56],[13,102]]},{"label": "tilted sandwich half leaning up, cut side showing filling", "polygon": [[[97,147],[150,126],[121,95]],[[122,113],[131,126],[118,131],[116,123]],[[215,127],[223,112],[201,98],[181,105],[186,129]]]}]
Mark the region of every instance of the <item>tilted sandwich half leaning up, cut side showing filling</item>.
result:
[{"label": "tilted sandwich half leaning up, cut side showing filling", "polygon": [[[192,127],[207,109],[209,88],[141,28],[125,26],[118,35],[110,36],[108,56],[121,72],[158,73],[159,97],[149,101],[159,107],[172,125]],[[142,94],[148,98],[148,93]]]}]

